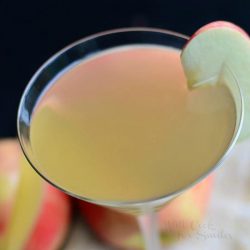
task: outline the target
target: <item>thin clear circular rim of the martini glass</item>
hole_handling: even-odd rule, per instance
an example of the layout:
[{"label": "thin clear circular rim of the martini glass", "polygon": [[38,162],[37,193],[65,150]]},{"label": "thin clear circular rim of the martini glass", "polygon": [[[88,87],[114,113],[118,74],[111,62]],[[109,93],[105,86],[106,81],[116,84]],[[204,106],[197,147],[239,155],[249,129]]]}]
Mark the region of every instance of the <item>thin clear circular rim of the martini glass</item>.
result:
[{"label": "thin clear circular rim of the martini glass", "polygon": [[241,131],[242,124],[243,124],[244,102],[243,102],[242,91],[241,91],[241,88],[239,86],[237,77],[235,76],[235,74],[233,73],[233,71],[231,69],[229,69],[229,71],[233,76],[233,79],[234,79],[234,81],[235,81],[235,83],[237,85],[237,88],[238,88],[238,91],[239,91],[240,97],[241,97],[240,98],[240,100],[241,100],[240,101],[240,110],[241,110],[241,112],[239,114],[239,125],[237,126],[237,124],[235,124],[235,131],[234,131],[234,134],[232,135],[232,139],[231,139],[230,143],[228,144],[228,147],[226,148],[224,153],[221,155],[221,157],[218,159],[218,161],[212,167],[210,167],[205,173],[200,175],[196,180],[194,180],[190,184],[185,185],[184,187],[181,187],[178,190],[173,191],[171,193],[168,193],[166,195],[162,195],[162,196],[155,197],[155,198],[150,198],[150,199],[145,199],[145,200],[138,200],[138,201],[111,201],[111,200],[95,200],[95,199],[91,199],[91,198],[87,198],[87,197],[75,194],[72,191],[68,191],[68,190],[64,189],[60,185],[57,185],[56,183],[51,181],[48,177],[46,177],[45,174],[41,173],[38,170],[38,168],[36,168],[34,166],[34,164],[32,163],[32,161],[30,160],[30,157],[29,157],[28,153],[26,152],[25,146],[23,145],[23,142],[22,142],[22,135],[21,135],[22,133],[21,133],[21,129],[20,129],[20,120],[21,120],[20,117],[21,117],[22,107],[24,106],[24,102],[25,102],[25,98],[26,98],[27,94],[29,93],[31,87],[34,84],[36,84],[36,78],[40,75],[42,70],[44,68],[46,68],[51,62],[56,60],[60,55],[64,54],[65,52],[67,52],[68,50],[70,50],[71,48],[74,48],[75,46],[77,46],[79,44],[88,42],[90,40],[94,40],[94,39],[99,38],[99,37],[112,35],[112,34],[115,34],[115,33],[116,34],[124,33],[124,32],[153,32],[153,33],[160,33],[160,34],[165,34],[165,35],[172,36],[172,37],[175,37],[175,38],[180,38],[180,39],[183,39],[183,40],[186,40],[186,41],[188,41],[189,38],[190,38],[187,35],[184,35],[184,34],[181,34],[181,33],[175,32],[175,31],[167,30],[167,29],[151,28],[151,27],[128,27],[128,28],[117,28],[117,29],[111,29],[111,30],[107,30],[107,31],[98,32],[96,34],[86,36],[84,38],[78,39],[75,42],[70,43],[69,45],[65,46],[64,48],[59,50],[57,53],[52,55],[48,60],[46,60],[38,68],[38,70],[33,74],[31,79],[29,80],[27,86],[25,87],[25,89],[23,91],[23,94],[21,96],[21,100],[19,102],[18,112],[17,112],[18,141],[19,141],[19,144],[21,146],[22,152],[23,152],[26,160],[28,161],[30,166],[37,172],[37,174],[39,174],[40,177],[42,177],[43,180],[47,181],[49,184],[51,184],[55,188],[59,189],[60,191],[66,193],[66,194],[68,194],[70,196],[73,196],[75,198],[78,198],[78,199],[86,201],[86,202],[90,202],[90,203],[94,203],[94,204],[102,205],[102,206],[106,206],[106,207],[117,208],[117,209],[122,209],[122,208],[128,208],[128,209],[131,208],[132,209],[132,208],[142,208],[142,207],[145,208],[145,207],[158,206],[158,205],[164,204],[165,202],[171,200],[172,198],[175,198],[177,195],[183,193],[187,189],[192,188],[193,186],[198,184],[200,181],[205,179],[209,174],[211,174],[213,172],[214,169],[217,169],[224,162],[224,160],[228,157],[229,153],[231,152],[232,148],[234,147],[235,143],[237,142],[237,139],[238,139],[238,137],[240,135],[240,131]]}]

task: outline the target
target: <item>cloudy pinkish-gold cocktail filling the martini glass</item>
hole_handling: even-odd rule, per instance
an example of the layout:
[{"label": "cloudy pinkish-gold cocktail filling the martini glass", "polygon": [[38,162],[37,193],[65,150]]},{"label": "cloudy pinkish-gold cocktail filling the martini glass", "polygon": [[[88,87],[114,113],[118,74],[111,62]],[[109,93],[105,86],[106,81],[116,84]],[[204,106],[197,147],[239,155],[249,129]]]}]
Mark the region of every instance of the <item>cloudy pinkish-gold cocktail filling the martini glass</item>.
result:
[{"label": "cloudy pinkish-gold cocktail filling the martini glass", "polygon": [[35,167],[86,198],[159,198],[214,166],[235,110],[223,84],[188,90],[180,51],[118,47],[61,73],[43,93],[31,121]]}]

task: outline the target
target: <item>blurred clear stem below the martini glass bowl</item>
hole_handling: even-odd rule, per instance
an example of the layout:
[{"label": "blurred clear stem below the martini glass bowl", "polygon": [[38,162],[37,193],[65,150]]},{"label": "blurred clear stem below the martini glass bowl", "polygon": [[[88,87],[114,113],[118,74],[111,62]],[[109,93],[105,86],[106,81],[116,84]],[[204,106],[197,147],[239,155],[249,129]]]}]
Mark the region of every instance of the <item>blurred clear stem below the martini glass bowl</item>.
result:
[{"label": "blurred clear stem below the martini glass bowl", "polygon": [[160,250],[160,234],[158,230],[157,213],[153,210],[137,217],[146,250]]}]

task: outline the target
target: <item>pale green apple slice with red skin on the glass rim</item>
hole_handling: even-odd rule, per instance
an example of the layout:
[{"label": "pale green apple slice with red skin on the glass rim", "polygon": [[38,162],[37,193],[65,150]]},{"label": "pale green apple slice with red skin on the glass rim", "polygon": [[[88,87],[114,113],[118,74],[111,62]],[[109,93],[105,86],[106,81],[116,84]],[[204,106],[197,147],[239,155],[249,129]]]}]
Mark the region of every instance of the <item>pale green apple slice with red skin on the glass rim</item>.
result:
[{"label": "pale green apple slice with red skin on the glass rim", "polygon": [[217,21],[200,28],[181,53],[189,88],[216,83],[228,67],[236,77],[244,99],[244,123],[240,140],[250,136],[250,40],[235,24]]}]

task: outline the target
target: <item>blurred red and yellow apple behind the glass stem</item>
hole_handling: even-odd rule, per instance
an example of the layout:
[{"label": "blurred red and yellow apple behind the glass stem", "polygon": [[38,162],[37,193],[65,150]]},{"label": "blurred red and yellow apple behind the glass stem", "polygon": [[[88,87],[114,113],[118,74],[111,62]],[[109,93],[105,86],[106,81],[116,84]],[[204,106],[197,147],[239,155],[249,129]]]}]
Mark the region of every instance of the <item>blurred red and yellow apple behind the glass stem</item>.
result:
[{"label": "blurred red and yellow apple behind the glass stem", "polygon": [[[159,227],[163,244],[184,237],[201,223],[209,203],[213,177],[210,176],[163,207]],[[131,215],[78,201],[80,212],[97,237],[122,249],[143,249],[138,224]]]}]

